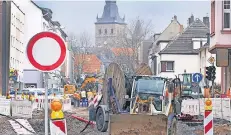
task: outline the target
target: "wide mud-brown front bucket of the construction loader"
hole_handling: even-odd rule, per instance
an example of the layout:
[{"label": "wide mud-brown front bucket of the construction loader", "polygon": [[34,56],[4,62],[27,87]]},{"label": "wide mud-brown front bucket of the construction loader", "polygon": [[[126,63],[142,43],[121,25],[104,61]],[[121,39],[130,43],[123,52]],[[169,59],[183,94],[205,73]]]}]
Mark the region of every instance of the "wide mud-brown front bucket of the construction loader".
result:
[{"label": "wide mud-brown front bucket of the construction loader", "polygon": [[167,135],[168,117],[164,114],[110,115],[109,135]]}]

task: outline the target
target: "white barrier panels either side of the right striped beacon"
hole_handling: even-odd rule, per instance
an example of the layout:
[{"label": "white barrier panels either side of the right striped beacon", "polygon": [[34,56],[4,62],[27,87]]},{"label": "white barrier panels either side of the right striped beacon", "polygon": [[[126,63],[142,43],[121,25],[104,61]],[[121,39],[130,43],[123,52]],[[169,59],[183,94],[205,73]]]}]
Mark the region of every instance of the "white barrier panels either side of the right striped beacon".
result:
[{"label": "white barrier panels either side of the right striped beacon", "polygon": [[[215,118],[231,121],[230,98],[211,98],[213,103],[213,116]],[[190,115],[204,115],[205,99],[187,99],[182,101],[181,112]]]}]

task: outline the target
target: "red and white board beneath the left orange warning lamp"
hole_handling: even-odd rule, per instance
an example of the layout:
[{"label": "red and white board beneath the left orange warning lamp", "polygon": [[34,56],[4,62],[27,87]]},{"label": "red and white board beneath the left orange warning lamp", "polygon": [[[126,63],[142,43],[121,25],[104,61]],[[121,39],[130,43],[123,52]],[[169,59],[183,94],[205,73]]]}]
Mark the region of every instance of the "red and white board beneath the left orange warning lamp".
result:
[{"label": "red and white board beneath the left orange warning lamp", "polygon": [[67,135],[66,120],[50,120],[51,135]]}]

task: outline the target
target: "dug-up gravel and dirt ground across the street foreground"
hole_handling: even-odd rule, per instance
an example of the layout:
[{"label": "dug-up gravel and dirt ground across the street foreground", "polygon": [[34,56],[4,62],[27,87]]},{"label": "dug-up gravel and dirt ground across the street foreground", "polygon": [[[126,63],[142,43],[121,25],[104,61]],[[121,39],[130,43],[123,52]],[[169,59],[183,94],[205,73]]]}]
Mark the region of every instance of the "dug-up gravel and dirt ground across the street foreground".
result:
[{"label": "dug-up gravel and dirt ground across the street foreground", "polygon": [[[86,126],[86,123],[80,122],[77,119],[70,117],[72,114],[77,116],[88,118],[88,112],[86,108],[73,109],[71,112],[65,112],[65,118],[67,121],[67,133],[68,135],[108,135],[107,132],[101,133],[97,129],[91,126],[80,133],[80,131]],[[34,111],[33,119],[28,119],[29,123],[36,131],[36,135],[44,135],[44,113],[42,111]],[[16,135],[11,127],[9,118],[0,116],[0,135]],[[231,124],[228,121],[216,119],[215,123],[215,135],[231,135]],[[178,122],[177,135],[203,135],[203,125],[189,126],[185,123]]]}]

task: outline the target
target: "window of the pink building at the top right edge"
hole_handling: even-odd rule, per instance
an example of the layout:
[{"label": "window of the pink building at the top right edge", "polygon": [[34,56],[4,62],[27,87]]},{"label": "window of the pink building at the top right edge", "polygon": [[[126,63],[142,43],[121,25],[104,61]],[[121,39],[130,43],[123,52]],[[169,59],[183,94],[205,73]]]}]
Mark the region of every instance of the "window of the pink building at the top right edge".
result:
[{"label": "window of the pink building at the top right edge", "polygon": [[230,0],[225,0],[223,2],[224,9],[224,19],[223,19],[223,27],[224,29],[230,29]]}]

